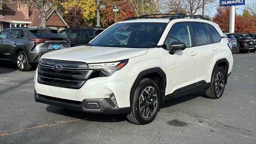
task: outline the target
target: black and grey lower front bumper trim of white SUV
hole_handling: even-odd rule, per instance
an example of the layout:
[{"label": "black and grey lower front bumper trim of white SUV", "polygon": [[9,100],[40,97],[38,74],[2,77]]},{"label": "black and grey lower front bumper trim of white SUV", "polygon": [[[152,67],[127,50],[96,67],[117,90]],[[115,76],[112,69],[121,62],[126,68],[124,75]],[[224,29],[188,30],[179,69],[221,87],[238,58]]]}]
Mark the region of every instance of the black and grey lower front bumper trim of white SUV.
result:
[{"label": "black and grey lower front bumper trim of white SUV", "polygon": [[132,110],[132,107],[117,108],[110,98],[84,99],[80,102],[45,96],[38,94],[36,90],[34,97],[36,102],[94,114],[124,114]]}]

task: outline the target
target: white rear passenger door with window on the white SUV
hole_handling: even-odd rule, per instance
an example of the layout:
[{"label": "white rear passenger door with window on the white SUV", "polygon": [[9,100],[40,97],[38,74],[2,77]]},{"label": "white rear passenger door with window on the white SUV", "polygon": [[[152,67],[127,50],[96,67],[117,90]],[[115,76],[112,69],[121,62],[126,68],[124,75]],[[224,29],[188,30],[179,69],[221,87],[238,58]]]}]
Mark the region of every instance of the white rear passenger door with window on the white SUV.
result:
[{"label": "white rear passenger door with window on the white SUV", "polygon": [[221,36],[214,26],[205,23],[191,23],[194,42],[198,48],[198,82],[210,82],[214,59],[220,57],[219,42]]}]

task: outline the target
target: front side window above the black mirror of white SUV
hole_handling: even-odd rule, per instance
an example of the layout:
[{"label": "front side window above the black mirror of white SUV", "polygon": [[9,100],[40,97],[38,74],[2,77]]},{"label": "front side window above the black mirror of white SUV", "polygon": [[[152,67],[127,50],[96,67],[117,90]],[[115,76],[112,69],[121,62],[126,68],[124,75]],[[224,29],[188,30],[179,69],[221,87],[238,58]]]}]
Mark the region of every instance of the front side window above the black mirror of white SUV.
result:
[{"label": "front side window above the black mirror of white SUV", "polygon": [[[191,35],[187,23],[174,24],[168,34],[169,45],[170,47],[172,42],[182,42],[186,44],[186,47],[191,47]],[[166,41],[168,41],[166,40]],[[166,42],[164,43],[166,45]]]}]

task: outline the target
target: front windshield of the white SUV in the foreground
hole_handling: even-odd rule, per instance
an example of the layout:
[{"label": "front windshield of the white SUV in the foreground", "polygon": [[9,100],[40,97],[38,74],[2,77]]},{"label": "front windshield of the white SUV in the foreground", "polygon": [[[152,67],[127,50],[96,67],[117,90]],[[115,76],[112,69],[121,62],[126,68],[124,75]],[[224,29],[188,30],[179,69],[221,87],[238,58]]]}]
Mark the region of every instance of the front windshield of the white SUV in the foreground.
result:
[{"label": "front windshield of the white SUV in the foreground", "polygon": [[90,46],[154,48],[167,23],[132,22],[115,24],[90,42]]}]

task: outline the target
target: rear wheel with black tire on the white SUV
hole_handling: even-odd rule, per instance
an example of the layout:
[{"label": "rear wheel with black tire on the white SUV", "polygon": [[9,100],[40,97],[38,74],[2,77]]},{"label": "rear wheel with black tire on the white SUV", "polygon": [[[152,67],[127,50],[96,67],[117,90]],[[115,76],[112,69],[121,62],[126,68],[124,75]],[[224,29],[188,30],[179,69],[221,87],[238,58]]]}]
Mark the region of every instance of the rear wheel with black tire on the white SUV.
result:
[{"label": "rear wheel with black tire on the white SUV", "polygon": [[[221,74],[219,74],[221,73]],[[218,77],[219,80],[217,80],[217,74],[218,74]],[[211,86],[207,89],[205,89],[205,94],[208,98],[220,98],[224,92],[224,89],[225,89],[225,82],[226,82],[226,74],[224,73],[224,70],[221,68],[221,67],[217,67],[215,70],[214,70],[214,73],[213,73],[213,76],[212,76],[212,80],[211,80]],[[222,85],[223,87],[222,87]],[[220,88],[221,91],[220,91]]]}]

